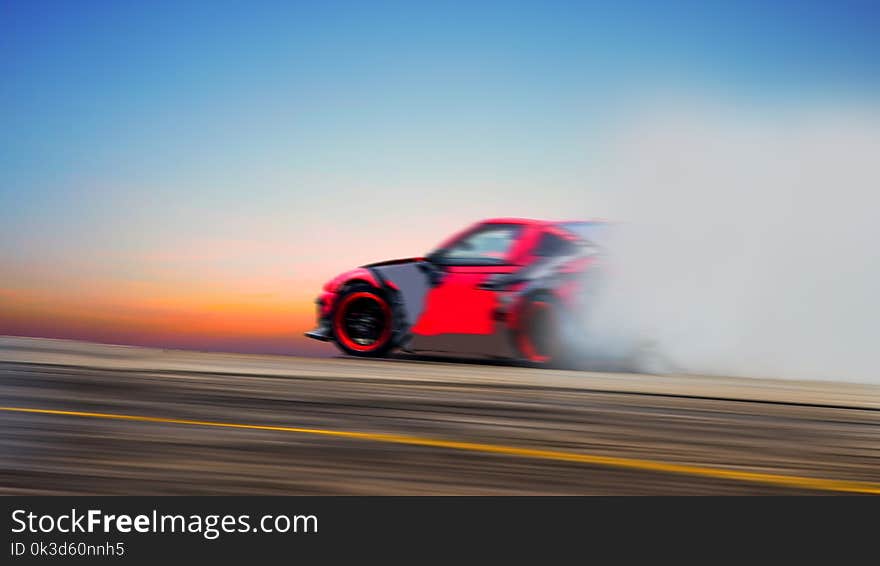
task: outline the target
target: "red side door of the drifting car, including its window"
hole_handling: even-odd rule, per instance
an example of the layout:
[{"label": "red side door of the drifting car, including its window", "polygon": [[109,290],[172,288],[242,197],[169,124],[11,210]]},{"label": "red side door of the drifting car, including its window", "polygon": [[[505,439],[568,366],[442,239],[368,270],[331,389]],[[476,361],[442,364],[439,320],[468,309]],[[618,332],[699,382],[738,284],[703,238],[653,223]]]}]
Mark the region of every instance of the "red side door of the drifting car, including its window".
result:
[{"label": "red side door of the drifting car, including its window", "polygon": [[495,317],[498,294],[480,285],[519,268],[514,260],[531,231],[524,224],[482,224],[432,253],[433,284],[412,329],[412,349],[506,355],[507,340]]}]

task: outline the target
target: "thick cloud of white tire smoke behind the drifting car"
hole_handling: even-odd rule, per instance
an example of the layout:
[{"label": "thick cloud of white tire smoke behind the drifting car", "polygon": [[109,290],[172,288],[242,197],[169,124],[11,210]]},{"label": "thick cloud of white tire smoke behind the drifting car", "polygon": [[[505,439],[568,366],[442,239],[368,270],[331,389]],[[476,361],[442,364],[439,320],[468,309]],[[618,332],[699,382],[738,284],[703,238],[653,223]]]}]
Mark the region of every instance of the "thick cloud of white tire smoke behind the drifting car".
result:
[{"label": "thick cloud of white tire smoke behind the drifting car", "polygon": [[880,114],[664,110],[601,175],[590,351],[643,370],[880,382]]}]

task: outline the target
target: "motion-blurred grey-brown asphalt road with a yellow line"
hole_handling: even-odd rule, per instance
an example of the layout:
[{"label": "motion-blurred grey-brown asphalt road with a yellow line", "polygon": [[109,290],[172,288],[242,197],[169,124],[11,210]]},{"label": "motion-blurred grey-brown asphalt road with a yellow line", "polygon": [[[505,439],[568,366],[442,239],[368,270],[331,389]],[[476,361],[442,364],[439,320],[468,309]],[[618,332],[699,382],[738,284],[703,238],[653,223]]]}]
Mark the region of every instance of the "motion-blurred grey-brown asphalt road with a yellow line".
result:
[{"label": "motion-blurred grey-brown asphalt road with a yellow line", "polygon": [[0,337],[0,494],[880,493],[880,387]]}]

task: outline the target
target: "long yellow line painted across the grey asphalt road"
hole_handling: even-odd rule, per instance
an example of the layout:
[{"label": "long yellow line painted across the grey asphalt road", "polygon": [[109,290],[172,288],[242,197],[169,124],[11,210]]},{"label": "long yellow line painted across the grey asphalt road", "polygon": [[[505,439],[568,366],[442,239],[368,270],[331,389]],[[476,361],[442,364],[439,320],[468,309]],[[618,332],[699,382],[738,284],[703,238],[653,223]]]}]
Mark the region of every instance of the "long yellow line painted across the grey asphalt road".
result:
[{"label": "long yellow line painted across the grey asphalt road", "polygon": [[871,493],[880,495],[880,483],[833,480],[825,478],[810,478],[803,476],[788,476],[782,474],[764,474],[724,468],[709,468],[704,466],[691,466],[686,464],[672,464],[652,460],[640,460],[636,458],[620,458],[615,456],[599,456],[595,454],[582,454],[579,452],[565,452],[561,450],[541,450],[536,448],[520,448],[501,444],[484,444],[479,442],[459,442],[455,440],[441,440],[407,436],[399,434],[382,434],[372,432],[353,432],[346,430],[326,430],[319,428],[301,428],[290,426],[268,426],[253,424],[224,423],[215,421],[196,421],[189,419],[167,419],[162,417],[146,417],[141,415],[121,415],[114,413],[89,413],[84,411],[58,411],[53,409],[29,409],[25,407],[0,407],[0,411],[15,413],[36,413],[41,415],[64,415],[71,417],[90,417],[97,419],[115,419],[121,421],[137,421],[147,423],[180,424],[195,426],[212,426],[222,428],[236,428],[246,430],[272,430],[280,432],[296,432],[300,434],[316,434],[337,438],[355,438],[359,440],[372,440],[376,442],[389,442],[392,444],[409,444],[414,446],[431,446],[435,448],[451,448],[454,450],[467,450],[471,452],[484,452],[491,454],[505,454],[509,456],[521,456],[525,458],[539,458],[543,460],[559,460],[563,462],[577,462],[596,466],[610,466],[630,470],[644,470],[652,472],[667,472],[690,476],[703,476],[716,479],[737,480],[761,484],[780,485],[792,488],[814,489],[824,491],[844,491],[851,493]]}]

